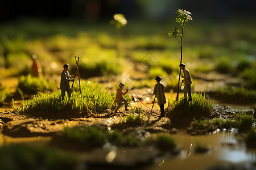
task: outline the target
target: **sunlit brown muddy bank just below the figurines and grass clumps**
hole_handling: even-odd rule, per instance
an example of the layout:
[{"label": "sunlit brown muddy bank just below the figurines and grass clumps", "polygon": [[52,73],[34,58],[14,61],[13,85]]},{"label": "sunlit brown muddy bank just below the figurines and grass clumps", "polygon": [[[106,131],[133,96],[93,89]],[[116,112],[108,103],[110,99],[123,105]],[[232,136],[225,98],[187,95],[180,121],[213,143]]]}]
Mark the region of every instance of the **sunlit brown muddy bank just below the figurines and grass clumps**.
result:
[{"label": "sunlit brown muddy bank just below the figurines and grass clumps", "polygon": [[[240,112],[239,109],[215,105],[209,115],[202,114],[197,118],[212,119],[217,117],[227,119],[234,118],[234,113]],[[246,112],[251,113],[253,111]],[[124,111],[121,108],[118,113],[108,110],[105,113],[94,114],[91,117],[73,118],[69,116],[69,118],[60,119],[60,114],[41,114],[35,117],[6,111],[0,112],[0,128],[2,129],[2,134],[11,137],[52,136],[63,131],[65,126],[102,126],[108,129],[120,129],[124,133],[177,133],[177,129],[184,131],[193,121],[192,117],[185,116],[181,118],[175,115],[158,118],[158,113],[151,113],[148,109],[143,108],[144,123],[127,124],[123,121],[125,121],[127,114],[130,113],[131,111]],[[150,116],[149,119],[148,116]]]}]

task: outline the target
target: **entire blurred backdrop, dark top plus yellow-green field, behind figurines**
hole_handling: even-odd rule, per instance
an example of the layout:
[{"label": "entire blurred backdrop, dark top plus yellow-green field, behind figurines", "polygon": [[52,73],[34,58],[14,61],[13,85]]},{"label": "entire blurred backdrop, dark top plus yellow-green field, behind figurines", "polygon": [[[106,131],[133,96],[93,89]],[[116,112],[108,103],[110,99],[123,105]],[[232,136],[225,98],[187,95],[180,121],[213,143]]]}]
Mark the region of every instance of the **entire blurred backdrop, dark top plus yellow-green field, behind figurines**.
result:
[{"label": "entire blurred backdrop, dark top plus yellow-green field, behind figurines", "polygon": [[[253,0],[1,1],[0,87],[18,84],[20,75],[30,74],[35,54],[43,77],[53,80],[56,89],[64,63],[74,74],[74,56],[80,56],[82,79],[101,77],[99,82],[141,88],[154,86],[155,76],[161,75],[167,90],[176,91],[180,49],[168,32],[181,28],[175,23],[177,8],[193,18],[185,24],[183,37],[183,62],[195,80],[193,90],[255,90]],[[114,14],[127,19],[119,33],[110,24]],[[148,59],[158,65],[148,64]]]}]

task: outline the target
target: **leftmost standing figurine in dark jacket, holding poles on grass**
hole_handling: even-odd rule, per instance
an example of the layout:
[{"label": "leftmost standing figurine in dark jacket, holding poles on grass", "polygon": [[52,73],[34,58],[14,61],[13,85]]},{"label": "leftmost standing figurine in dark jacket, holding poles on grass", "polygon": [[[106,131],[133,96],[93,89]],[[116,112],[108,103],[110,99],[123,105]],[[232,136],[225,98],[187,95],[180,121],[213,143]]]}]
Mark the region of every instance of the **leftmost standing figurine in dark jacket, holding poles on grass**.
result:
[{"label": "leftmost standing figurine in dark jacket, holding poles on grass", "polygon": [[65,92],[67,91],[68,97],[71,96],[71,87],[70,82],[74,82],[74,79],[71,79],[74,77],[74,75],[70,75],[68,72],[68,64],[65,64],[63,66],[64,70],[61,73],[61,79],[60,79],[60,90],[61,90],[61,99],[64,100]]}]

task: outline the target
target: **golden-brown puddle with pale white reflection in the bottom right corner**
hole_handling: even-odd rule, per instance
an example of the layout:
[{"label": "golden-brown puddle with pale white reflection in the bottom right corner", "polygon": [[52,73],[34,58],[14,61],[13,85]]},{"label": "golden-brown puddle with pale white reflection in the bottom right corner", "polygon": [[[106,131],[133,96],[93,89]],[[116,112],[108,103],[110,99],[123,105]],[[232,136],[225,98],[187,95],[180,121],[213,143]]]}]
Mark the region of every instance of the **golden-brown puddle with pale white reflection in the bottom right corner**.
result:
[{"label": "golden-brown puddle with pale white reflection in the bottom right corner", "polygon": [[[222,163],[254,163],[256,162],[256,150],[247,149],[235,138],[235,131],[219,132],[211,135],[191,136],[189,134],[172,134],[181,148],[176,158],[158,160],[150,169],[207,169],[212,165]],[[196,154],[195,143],[200,142],[212,148],[207,154]]]}]

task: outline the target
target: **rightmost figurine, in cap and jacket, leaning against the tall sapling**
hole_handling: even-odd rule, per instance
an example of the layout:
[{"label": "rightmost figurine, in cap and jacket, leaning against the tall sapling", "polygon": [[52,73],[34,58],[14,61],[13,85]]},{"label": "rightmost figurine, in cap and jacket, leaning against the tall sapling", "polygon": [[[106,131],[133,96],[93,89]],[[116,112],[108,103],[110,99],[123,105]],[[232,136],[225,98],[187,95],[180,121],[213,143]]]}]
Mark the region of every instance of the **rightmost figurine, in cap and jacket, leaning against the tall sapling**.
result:
[{"label": "rightmost figurine, in cap and jacket, leaning against the tall sapling", "polygon": [[192,80],[191,80],[191,76],[190,76],[189,70],[185,68],[185,64],[184,63],[181,63],[179,66],[180,66],[180,69],[183,70],[183,74],[184,74],[184,75],[181,75],[181,77],[184,78],[182,80],[182,83],[185,84],[185,87],[183,89],[184,100],[187,100],[187,94],[188,94],[188,101],[192,101],[192,96],[191,96]]}]

